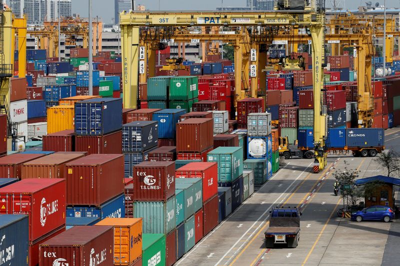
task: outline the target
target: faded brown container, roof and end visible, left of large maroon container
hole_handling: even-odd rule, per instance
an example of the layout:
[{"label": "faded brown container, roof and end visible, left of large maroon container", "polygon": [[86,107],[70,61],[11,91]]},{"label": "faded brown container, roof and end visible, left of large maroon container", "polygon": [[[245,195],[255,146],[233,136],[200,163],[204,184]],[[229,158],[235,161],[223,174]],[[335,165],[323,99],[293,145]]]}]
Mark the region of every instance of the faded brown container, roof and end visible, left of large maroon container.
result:
[{"label": "faded brown container, roof and end visible, left of large maroon container", "polygon": [[21,179],[65,178],[66,163],[85,156],[83,152],[56,152],[22,164]]}]

